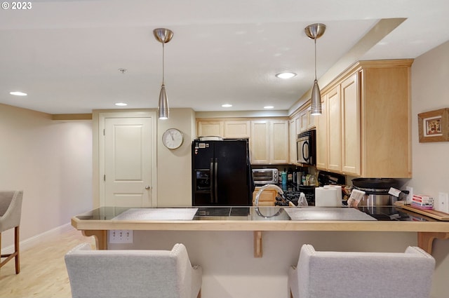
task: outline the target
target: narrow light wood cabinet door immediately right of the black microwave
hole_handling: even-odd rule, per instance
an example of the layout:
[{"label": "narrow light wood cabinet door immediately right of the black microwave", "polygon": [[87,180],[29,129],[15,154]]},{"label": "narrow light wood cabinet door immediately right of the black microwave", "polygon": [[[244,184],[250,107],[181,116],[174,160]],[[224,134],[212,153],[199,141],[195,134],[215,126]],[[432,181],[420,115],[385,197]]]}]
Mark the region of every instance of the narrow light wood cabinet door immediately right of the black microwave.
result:
[{"label": "narrow light wood cabinet door immediately right of the black microwave", "polygon": [[316,118],[316,168],[328,170],[328,108],[326,96],[321,97],[321,115]]}]

